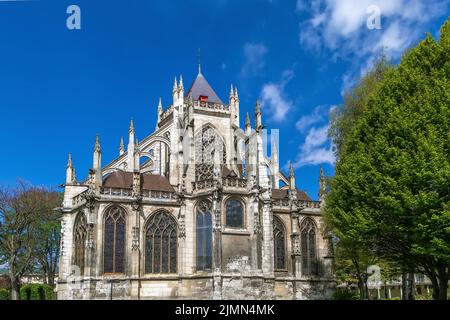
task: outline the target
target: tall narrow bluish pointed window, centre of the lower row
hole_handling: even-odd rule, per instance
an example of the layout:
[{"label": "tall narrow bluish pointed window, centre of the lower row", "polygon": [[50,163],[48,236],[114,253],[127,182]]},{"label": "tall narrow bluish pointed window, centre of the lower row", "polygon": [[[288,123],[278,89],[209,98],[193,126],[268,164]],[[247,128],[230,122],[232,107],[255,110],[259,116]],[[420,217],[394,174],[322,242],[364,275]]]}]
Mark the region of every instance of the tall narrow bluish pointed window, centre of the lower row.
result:
[{"label": "tall narrow bluish pointed window, centre of the lower row", "polygon": [[212,269],[211,202],[204,200],[197,207],[197,270]]}]

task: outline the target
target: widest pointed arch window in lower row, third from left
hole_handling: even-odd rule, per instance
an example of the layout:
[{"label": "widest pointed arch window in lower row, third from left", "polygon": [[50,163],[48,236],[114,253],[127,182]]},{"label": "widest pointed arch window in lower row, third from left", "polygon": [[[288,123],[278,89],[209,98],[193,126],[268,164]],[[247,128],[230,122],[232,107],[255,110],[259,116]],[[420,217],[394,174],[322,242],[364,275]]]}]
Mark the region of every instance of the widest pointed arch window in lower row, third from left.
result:
[{"label": "widest pointed arch window in lower row, third from left", "polygon": [[147,224],[145,272],[177,272],[177,225],[164,211],[155,213]]}]

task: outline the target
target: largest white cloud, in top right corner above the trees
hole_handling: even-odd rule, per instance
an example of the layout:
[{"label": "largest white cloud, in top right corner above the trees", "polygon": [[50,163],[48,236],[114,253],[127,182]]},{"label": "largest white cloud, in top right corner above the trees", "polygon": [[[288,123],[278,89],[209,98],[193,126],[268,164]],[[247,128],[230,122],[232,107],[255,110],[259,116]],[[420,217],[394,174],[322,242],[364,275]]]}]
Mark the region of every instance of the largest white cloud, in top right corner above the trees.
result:
[{"label": "largest white cloud, in top right corner above the trees", "polygon": [[[393,59],[421,39],[426,24],[447,12],[450,0],[313,0],[297,2],[297,11],[312,13],[300,23],[299,40],[307,49],[332,52],[351,60],[344,87],[354,82],[383,50]],[[369,29],[370,6],[381,13],[381,30]],[[360,68],[360,65],[363,65]]]}]

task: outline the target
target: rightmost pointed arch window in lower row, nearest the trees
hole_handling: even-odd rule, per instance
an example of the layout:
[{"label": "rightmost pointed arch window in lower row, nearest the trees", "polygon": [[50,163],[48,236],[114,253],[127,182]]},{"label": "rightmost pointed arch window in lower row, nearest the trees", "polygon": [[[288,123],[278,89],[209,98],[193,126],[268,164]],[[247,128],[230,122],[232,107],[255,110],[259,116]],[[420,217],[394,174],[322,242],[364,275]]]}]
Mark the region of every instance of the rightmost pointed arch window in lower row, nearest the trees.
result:
[{"label": "rightmost pointed arch window in lower row, nearest the trees", "polygon": [[301,228],[302,274],[317,275],[316,225],[310,218],[305,218]]}]

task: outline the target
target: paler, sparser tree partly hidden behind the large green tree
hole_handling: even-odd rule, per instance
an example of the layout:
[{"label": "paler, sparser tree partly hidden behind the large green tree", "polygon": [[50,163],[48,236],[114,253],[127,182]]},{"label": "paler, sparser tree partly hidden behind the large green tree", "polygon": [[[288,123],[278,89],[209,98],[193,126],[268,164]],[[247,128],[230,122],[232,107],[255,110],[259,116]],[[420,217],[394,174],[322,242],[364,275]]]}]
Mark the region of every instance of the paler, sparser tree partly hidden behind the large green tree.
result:
[{"label": "paler, sparser tree partly hidden behind the large green tree", "polygon": [[[391,68],[392,65],[386,57],[381,55],[374,67],[358,81],[352,90],[346,92],[344,103],[332,112],[329,135],[335,145],[338,161],[340,157],[345,155],[345,142],[355,123],[362,118],[367,108],[369,97],[376,91],[384,75]],[[331,182],[328,184],[331,185]],[[345,199],[336,200],[345,202]],[[327,211],[327,207],[325,211]],[[372,252],[371,245],[368,245],[366,241],[362,241],[358,233],[352,232],[355,224],[362,223],[363,220],[358,215],[350,212],[345,219],[341,217],[339,220],[336,220],[335,218],[334,215],[325,213],[326,225],[338,238],[335,252],[335,269],[338,281],[349,284],[357,283],[360,299],[366,299],[368,298],[367,267],[374,264],[377,259]]]}]

